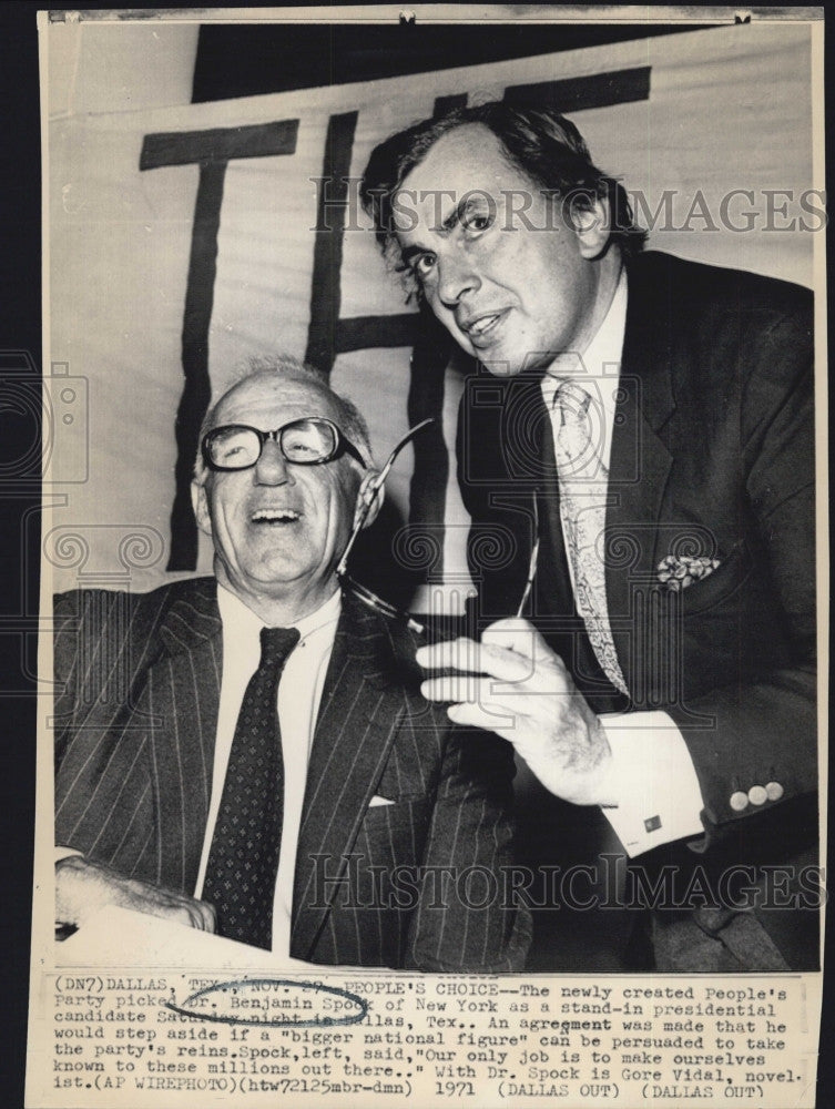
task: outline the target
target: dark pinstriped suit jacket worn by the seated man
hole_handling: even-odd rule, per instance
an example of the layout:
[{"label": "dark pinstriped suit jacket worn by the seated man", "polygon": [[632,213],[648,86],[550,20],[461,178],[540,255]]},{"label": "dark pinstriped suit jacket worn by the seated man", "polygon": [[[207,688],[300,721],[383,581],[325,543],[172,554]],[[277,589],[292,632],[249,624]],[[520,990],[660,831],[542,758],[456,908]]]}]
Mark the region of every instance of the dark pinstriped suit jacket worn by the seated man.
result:
[{"label": "dark pinstriped suit jacket worn by the seated man", "polygon": [[[344,596],[310,754],[291,954],[325,964],[519,969],[526,912],[503,909],[500,895],[472,907],[485,872],[498,889],[511,861],[512,762],[502,741],[452,730],[419,695],[417,645],[404,627]],[[221,655],[214,579],[59,598],[58,843],[193,893]],[[369,807],[375,794],[395,803]],[[401,872],[398,884],[395,872],[420,866],[481,871],[460,898],[455,883],[418,897],[420,876]]]}]

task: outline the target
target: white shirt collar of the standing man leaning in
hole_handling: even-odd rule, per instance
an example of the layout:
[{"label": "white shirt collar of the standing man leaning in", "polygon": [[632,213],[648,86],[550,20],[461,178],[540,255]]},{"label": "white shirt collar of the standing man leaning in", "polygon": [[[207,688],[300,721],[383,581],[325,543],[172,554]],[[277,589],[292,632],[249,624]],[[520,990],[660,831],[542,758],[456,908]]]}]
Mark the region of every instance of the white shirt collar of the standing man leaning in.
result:
[{"label": "white shirt collar of the standing man leaning in", "polygon": [[542,377],[542,396],[549,409],[564,380],[574,380],[592,398],[600,401],[611,423],[615,409],[615,393],[627,332],[627,271],[621,269],[618,286],[603,321],[581,356],[560,355]]}]

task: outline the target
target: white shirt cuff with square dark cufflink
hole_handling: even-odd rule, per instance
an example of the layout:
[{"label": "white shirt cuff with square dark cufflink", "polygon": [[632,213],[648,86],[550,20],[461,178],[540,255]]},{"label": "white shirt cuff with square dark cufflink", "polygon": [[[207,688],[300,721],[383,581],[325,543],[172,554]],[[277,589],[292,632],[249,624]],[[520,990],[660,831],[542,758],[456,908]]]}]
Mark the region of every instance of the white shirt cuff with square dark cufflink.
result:
[{"label": "white shirt cuff with square dark cufflink", "polygon": [[600,722],[612,750],[610,795],[617,798],[603,814],[630,858],[703,833],[702,791],[673,720],[659,710],[604,715]]}]

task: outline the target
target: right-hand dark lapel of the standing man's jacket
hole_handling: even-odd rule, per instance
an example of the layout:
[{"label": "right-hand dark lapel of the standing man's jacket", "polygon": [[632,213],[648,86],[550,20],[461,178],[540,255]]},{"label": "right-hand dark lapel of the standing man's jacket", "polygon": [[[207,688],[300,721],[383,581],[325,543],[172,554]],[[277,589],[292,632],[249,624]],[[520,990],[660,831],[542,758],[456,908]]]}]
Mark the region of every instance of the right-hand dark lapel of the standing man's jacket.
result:
[{"label": "right-hand dark lapel of the standing man's jacket", "polygon": [[[675,410],[671,307],[653,255],[628,268],[629,301],[609,464],[605,582],[618,657],[632,685],[632,586],[655,578],[659,528],[672,455],[663,429]],[[640,652],[639,652],[640,654]],[[630,680],[632,679],[632,681]]]}]

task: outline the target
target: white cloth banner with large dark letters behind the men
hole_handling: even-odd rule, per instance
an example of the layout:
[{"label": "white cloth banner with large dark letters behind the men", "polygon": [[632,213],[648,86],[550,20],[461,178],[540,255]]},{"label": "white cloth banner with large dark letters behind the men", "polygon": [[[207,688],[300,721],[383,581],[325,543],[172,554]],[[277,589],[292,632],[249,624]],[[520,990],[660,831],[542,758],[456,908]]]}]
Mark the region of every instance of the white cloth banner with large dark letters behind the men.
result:
[{"label": "white cloth banner with large dark letters behind the men", "polygon": [[[106,59],[106,31],[85,28],[88,65],[96,34]],[[251,355],[313,352],[365,413],[385,457],[407,428],[410,385],[420,388],[409,369],[416,308],[384,269],[358,179],[374,145],[432,114],[438,98],[473,103],[523,95],[527,85],[566,105],[597,164],[622,177],[652,248],[812,283],[823,201],[812,192],[807,26],[753,23],[397,80],[54,118],[49,449],[52,487],[64,497],[45,553],[57,588],[145,589],[170,577],[166,567],[208,569],[211,551],[202,542],[196,556],[182,505],[172,540],[177,457],[182,495],[196,442],[193,433],[179,447],[175,416],[182,403],[194,420],[200,388],[222,390]],[[329,190],[346,176],[340,208]],[[335,230],[317,233],[323,187]],[[450,610],[469,587],[452,457],[460,389],[449,368],[436,401],[446,488],[442,476],[417,475],[429,525],[438,535],[448,526],[442,558],[425,569],[446,583]],[[411,468],[409,450],[389,480],[386,542],[409,521]],[[368,584],[385,592],[385,582]],[[425,610],[428,598],[411,603]]]}]

